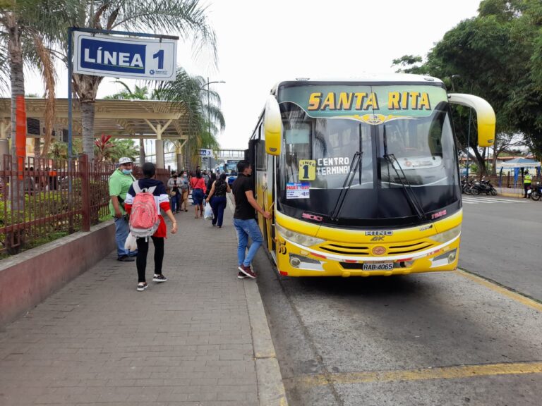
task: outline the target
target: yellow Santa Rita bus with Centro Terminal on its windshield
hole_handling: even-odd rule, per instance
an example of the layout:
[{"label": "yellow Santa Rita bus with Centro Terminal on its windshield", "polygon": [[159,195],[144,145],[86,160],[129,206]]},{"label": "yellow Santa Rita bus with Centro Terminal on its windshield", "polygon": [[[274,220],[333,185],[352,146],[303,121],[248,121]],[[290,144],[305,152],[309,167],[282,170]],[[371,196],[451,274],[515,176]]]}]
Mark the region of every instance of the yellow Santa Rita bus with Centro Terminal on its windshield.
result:
[{"label": "yellow Santa Rita bus with Centro Terminal on its windshield", "polygon": [[395,74],[296,79],[271,91],[246,158],[264,247],[284,276],[406,275],[457,268],[462,223],[450,104],[476,111],[493,144],[487,101]]}]

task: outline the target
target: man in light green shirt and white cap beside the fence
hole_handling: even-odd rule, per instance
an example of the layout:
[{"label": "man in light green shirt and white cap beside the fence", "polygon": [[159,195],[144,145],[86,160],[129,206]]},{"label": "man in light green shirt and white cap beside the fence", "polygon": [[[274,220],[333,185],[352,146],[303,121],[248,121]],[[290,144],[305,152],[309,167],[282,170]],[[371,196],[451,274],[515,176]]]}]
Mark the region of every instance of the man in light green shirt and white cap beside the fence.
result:
[{"label": "man in light green shirt and white cap beside the fence", "polygon": [[124,248],[126,238],[128,238],[128,216],[124,209],[126,192],[130,189],[135,178],[132,176],[132,159],[123,156],[119,159],[119,168],[115,169],[109,177],[109,212],[115,219],[115,242],[116,259],[122,262],[132,262],[137,251],[130,252]]}]

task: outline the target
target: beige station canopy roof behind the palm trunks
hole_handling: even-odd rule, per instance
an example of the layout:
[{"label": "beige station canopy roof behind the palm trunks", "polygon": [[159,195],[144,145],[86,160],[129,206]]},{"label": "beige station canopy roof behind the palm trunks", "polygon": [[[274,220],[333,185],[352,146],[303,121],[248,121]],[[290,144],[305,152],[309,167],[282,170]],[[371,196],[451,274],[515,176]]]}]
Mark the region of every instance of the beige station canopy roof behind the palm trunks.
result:
[{"label": "beige station canopy roof behind the palm trunks", "polygon": [[[36,123],[37,128],[28,125],[28,137],[42,137],[44,134],[45,100],[27,97],[25,99],[28,123]],[[56,99],[54,131],[56,137],[68,129],[68,99]],[[0,99],[0,120],[4,123],[11,121],[11,99]],[[80,104],[73,101],[73,137],[81,137]],[[186,140],[188,138],[188,118],[186,109],[173,106],[167,101],[157,100],[126,100],[126,99],[97,99],[95,101],[95,137],[102,134],[114,138],[127,139],[169,139]]]}]

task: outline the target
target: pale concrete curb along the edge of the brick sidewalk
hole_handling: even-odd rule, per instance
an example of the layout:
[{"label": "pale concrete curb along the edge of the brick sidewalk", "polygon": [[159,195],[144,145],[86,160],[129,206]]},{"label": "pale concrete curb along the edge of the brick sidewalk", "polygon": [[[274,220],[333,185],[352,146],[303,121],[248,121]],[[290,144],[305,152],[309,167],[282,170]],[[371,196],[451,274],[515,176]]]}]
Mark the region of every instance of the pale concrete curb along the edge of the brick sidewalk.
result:
[{"label": "pale concrete curb along the edge of the brick sidewalk", "polygon": [[[228,207],[234,214],[234,202]],[[235,231],[234,231],[235,232]],[[237,240],[237,233],[235,233]],[[258,404],[260,406],[288,406],[286,390],[282,383],[279,361],[275,353],[275,345],[271,338],[267,315],[263,308],[262,297],[256,281],[243,281],[245,288],[248,319],[251,324],[254,360],[256,365],[256,382],[258,386]]]}]

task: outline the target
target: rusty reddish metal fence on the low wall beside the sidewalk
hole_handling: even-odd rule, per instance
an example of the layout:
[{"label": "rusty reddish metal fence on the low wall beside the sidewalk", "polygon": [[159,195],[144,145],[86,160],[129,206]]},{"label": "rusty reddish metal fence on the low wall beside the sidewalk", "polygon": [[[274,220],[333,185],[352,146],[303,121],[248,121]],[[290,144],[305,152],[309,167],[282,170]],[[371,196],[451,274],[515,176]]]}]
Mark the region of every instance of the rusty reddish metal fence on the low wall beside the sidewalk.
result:
[{"label": "rusty reddish metal fence on the low wall beside the sidewalk", "polygon": [[[24,168],[23,168],[24,162]],[[2,157],[0,170],[0,254],[16,254],[109,219],[109,176],[114,164]],[[157,179],[167,183],[168,169]],[[140,168],[134,168],[140,177]]]}]

